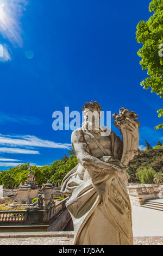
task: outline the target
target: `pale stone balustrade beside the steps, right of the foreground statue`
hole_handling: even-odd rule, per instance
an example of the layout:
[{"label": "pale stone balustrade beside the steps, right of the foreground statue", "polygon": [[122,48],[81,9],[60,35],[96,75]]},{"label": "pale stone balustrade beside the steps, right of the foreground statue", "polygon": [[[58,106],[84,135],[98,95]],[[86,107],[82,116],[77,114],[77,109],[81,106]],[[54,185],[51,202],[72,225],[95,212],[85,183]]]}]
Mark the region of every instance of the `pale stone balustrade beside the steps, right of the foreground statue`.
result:
[{"label": "pale stone balustrade beside the steps, right of the foreground statue", "polygon": [[163,185],[150,185],[143,187],[127,186],[127,192],[129,194],[131,204],[141,206],[145,202],[145,200],[163,198]]}]

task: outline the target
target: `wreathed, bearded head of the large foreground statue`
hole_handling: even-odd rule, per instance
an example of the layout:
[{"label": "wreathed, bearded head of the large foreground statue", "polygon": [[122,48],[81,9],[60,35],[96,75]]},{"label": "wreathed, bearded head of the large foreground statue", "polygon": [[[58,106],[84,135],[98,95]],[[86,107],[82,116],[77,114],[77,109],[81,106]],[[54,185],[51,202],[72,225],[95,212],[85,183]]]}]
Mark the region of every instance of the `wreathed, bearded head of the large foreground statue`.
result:
[{"label": "wreathed, bearded head of the large foreground statue", "polygon": [[92,130],[92,131],[99,131],[101,130],[100,127],[100,118],[101,118],[101,105],[99,105],[96,101],[86,102],[83,106],[83,113],[84,113],[84,129]]}]

